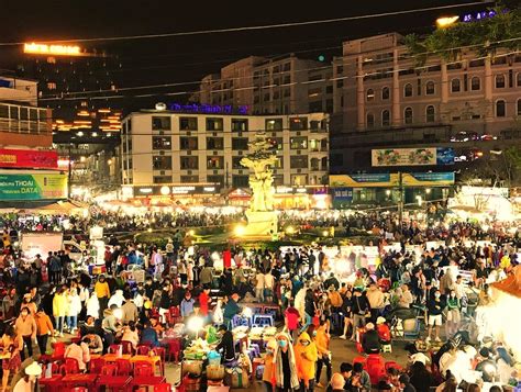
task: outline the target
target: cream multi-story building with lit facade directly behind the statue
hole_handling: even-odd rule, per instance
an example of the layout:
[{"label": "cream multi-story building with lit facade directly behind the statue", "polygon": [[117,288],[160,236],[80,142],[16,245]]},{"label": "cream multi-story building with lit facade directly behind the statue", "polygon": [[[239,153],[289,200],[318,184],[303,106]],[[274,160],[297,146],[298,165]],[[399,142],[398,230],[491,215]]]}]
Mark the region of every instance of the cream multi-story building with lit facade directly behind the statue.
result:
[{"label": "cream multi-story building with lit facade directly behind the statue", "polygon": [[328,115],[233,115],[143,110],[122,122],[121,172],[126,197],[219,194],[247,189],[241,165],[265,132],[278,164],[278,193],[307,193],[328,181]]}]

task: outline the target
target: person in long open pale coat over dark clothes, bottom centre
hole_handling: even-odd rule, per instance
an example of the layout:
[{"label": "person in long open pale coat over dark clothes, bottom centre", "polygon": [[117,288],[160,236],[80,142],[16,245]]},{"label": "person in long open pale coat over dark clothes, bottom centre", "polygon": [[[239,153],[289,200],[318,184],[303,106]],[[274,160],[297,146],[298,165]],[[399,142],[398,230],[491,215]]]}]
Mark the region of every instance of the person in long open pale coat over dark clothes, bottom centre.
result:
[{"label": "person in long open pale coat over dark clothes, bottom centre", "polygon": [[290,344],[290,337],[285,333],[278,334],[276,339],[275,387],[277,392],[292,392],[300,385],[293,346]]}]

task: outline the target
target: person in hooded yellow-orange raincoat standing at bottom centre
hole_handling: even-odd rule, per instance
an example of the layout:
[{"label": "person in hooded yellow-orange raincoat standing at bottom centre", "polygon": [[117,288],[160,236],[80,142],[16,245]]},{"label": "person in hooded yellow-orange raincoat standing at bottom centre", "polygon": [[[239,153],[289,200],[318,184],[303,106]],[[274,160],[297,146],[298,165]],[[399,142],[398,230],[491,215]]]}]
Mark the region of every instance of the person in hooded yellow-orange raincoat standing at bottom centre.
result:
[{"label": "person in hooded yellow-orange raincoat standing at bottom centre", "polygon": [[301,391],[313,392],[318,359],[319,354],[314,341],[307,332],[301,333],[295,344],[295,360]]}]

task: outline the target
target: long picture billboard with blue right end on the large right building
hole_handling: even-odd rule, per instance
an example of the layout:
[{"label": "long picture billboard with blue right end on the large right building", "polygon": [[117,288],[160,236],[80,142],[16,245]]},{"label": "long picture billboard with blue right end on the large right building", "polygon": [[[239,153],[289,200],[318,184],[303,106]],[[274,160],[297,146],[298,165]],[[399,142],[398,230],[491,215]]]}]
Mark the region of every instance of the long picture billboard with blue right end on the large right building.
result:
[{"label": "long picture billboard with blue right end on the large right building", "polygon": [[454,149],[442,147],[373,149],[370,158],[373,167],[454,165]]}]

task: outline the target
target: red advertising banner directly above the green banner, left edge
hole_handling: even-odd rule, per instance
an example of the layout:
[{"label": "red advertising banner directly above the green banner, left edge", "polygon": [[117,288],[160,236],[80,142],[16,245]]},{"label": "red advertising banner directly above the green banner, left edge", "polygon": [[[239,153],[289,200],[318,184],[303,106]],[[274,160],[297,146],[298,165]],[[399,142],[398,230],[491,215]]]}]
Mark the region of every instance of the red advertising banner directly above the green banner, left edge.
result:
[{"label": "red advertising banner directly above the green banner, left edge", "polygon": [[58,153],[0,148],[0,167],[16,169],[57,169]]}]

